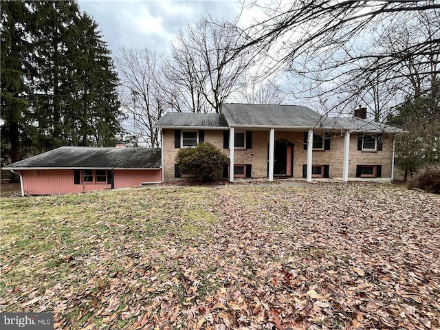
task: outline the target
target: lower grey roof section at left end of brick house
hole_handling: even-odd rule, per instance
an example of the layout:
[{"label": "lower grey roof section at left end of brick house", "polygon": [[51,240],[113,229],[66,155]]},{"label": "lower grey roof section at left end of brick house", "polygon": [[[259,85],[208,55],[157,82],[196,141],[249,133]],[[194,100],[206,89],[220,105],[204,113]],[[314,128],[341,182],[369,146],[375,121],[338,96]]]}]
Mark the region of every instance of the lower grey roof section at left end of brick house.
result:
[{"label": "lower grey roof section at left end of brick house", "polygon": [[168,127],[228,129],[228,122],[226,122],[224,115],[218,113],[168,112],[154,126],[159,129],[166,129]]}]

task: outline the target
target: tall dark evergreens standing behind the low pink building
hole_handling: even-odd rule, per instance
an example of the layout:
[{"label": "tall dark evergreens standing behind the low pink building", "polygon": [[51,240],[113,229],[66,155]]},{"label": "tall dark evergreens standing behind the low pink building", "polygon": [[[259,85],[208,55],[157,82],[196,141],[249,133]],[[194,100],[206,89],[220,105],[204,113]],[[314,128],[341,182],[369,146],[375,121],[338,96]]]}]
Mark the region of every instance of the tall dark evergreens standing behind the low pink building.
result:
[{"label": "tall dark evergreens standing behind the low pink building", "polygon": [[26,141],[36,152],[114,145],[118,76],[98,24],[76,1],[1,1],[1,29],[2,149],[12,161]]}]

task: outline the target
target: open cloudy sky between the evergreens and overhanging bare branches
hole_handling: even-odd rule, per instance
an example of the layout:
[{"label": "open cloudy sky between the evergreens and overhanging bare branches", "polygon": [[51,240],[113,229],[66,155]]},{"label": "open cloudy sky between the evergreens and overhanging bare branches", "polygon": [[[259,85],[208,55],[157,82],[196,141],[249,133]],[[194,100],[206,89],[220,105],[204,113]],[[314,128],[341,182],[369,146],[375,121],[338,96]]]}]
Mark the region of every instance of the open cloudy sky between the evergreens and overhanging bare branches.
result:
[{"label": "open cloudy sky between the evergreens and overhanging bare branches", "polygon": [[[214,19],[234,19],[242,9],[239,0],[78,0],[78,4],[94,17],[102,39],[113,52],[122,46],[162,52],[168,49],[179,28],[208,15]],[[241,21],[250,23],[251,12],[244,12]]]}]

